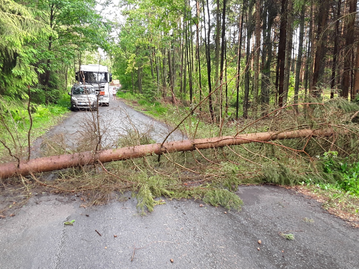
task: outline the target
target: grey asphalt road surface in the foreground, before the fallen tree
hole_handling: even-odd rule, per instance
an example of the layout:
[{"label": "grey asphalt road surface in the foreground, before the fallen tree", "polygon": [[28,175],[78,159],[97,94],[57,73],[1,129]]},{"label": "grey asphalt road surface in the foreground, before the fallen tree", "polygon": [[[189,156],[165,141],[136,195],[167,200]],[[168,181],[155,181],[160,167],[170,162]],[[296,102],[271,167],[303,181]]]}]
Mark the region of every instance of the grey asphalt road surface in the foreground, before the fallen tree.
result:
[{"label": "grey asphalt road surface in the foreground, before the fallen tree", "polygon": [[[76,123],[80,114],[72,115],[64,123]],[[183,199],[144,217],[129,193],[87,208],[75,195],[38,194],[0,219],[0,268],[358,268],[359,229],[320,203],[270,185],[239,187],[237,194],[239,212]]]}]

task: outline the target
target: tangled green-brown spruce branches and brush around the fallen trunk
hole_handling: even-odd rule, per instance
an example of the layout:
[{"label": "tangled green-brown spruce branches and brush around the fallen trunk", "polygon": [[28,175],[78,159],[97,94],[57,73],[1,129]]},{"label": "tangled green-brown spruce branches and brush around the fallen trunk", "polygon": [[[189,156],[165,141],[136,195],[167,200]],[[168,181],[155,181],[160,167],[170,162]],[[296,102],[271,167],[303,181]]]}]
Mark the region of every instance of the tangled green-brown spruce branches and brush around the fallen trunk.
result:
[{"label": "tangled green-brown spruce branches and brush around the fallen trunk", "polygon": [[[83,206],[122,200],[126,197],[123,193],[130,191],[137,199],[139,213],[145,214],[163,203],[162,197],[200,199],[213,206],[240,210],[242,200],[235,193],[239,185],[276,184],[320,190],[330,187],[353,197],[352,207],[346,212],[359,216],[359,204],[355,200],[359,197],[358,105],[343,99],[289,104],[281,109],[268,107],[263,117],[257,113],[257,118],[238,123],[224,119],[216,124],[208,123],[208,118],[201,118],[201,113],[190,108],[171,105],[166,105],[166,108],[163,114],[165,122],[178,126],[188,138],[323,128],[332,129],[333,135],[253,141],[238,146],[174,152],[107,164],[98,162],[53,173],[3,179],[4,190],[16,194],[21,199],[19,203],[36,192],[76,194],[81,196]],[[180,110],[182,113],[178,113]],[[177,117],[172,117],[173,114]],[[82,139],[81,150],[94,150],[96,143],[91,140],[96,137],[92,135]],[[47,156],[69,152],[69,148],[64,148],[66,146],[61,143],[47,143]],[[116,147],[147,143],[154,143],[150,132],[140,132],[131,127],[126,135],[118,138]],[[0,214],[9,206],[17,208],[8,203]]]}]

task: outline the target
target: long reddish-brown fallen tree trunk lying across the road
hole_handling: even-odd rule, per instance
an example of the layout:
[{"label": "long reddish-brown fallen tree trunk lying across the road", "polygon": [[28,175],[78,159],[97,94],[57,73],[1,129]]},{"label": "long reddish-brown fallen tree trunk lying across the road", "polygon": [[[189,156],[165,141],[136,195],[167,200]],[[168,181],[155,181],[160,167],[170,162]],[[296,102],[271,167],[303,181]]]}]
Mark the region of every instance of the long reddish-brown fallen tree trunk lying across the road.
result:
[{"label": "long reddish-brown fallen tree trunk lying across the road", "polygon": [[[94,164],[96,162],[121,161],[148,155],[161,155],[171,152],[195,151],[208,148],[221,148],[225,146],[241,145],[252,142],[268,142],[304,137],[320,137],[333,135],[333,129],[301,129],[286,132],[259,132],[248,133],[239,136],[223,136],[213,138],[200,138],[165,142],[163,144],[148,144],[132,147],[122,147],[93,152],[80,152],[75,154],[63,154],[51,157],[42,157],[20,162],[8,162],[0,165],[0,179],[14,176],[25,176],[31,173],[54,171],[75,166]],[[302,151],[304,154],[306,152]]]}]

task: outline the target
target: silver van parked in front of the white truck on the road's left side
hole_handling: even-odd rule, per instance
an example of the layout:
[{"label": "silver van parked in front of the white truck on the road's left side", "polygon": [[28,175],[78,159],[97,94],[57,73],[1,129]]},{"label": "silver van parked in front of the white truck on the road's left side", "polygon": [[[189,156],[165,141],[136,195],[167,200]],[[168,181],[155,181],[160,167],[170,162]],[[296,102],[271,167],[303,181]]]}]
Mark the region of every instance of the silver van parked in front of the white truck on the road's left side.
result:
[{"label": "silver van parked in front of the white truck on the road's left side", "polygon": [[97,95],[92,85],[74,84],[71,92],[71,110],[77,109],[97,109]]}]

